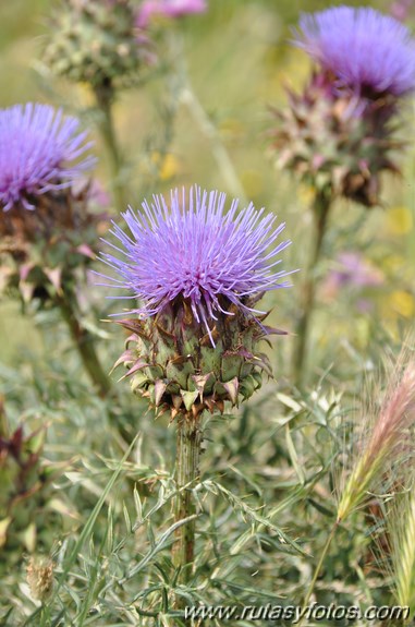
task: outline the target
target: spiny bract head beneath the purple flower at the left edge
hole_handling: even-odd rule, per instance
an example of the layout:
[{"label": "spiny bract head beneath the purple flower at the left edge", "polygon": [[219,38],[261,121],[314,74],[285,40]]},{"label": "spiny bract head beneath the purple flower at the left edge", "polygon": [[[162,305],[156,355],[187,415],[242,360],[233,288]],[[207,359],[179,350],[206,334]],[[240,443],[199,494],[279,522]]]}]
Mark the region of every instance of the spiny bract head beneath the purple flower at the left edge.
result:
[{"label": "spiny bract head beneath the purple flower at the left edge", "polygon": [[97,231],[106,216],[88,208],[89,184],[78,192],[51,191],[32,212],[15,206],[0,221],[0,294],[17,291],[23,302],[50,304],[75,273],[95,258]]}]

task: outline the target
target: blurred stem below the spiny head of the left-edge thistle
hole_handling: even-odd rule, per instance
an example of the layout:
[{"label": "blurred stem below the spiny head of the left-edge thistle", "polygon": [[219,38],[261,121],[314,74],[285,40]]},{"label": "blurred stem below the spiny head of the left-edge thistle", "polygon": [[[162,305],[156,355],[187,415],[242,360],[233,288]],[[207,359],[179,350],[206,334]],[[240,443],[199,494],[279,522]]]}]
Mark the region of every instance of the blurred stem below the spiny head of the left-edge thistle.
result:
[{"label": "blurred stem below the spiny head of the left-edge thistle", "polygon": [[75,297],[70,291],[64,291],[57,297],[57,304],[61,310],[62,317],[68,324],[72,339],[75,342],[85,370],[97,386],[100,396],[107,396],[110,391],[110,381],[105,373],[94,346],[94,336],[87,331],[77,317]]}]

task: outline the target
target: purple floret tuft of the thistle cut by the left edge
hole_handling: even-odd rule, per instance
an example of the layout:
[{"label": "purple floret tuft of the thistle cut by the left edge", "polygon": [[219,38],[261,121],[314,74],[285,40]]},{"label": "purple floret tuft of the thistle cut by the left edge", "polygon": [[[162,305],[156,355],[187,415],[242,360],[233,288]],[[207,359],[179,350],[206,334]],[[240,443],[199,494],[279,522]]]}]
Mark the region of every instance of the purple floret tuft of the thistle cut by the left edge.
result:
[{"label": "purple floret tuft of the thistle cut by the left edge", "polygon": [[[33,196],[70,188],[95,165],[84,156],[91,143],[76,118],[49,105],[15,105],[0,110],[0,205],[34,209]],[[80,157],[83,157],[81,160]]]}]

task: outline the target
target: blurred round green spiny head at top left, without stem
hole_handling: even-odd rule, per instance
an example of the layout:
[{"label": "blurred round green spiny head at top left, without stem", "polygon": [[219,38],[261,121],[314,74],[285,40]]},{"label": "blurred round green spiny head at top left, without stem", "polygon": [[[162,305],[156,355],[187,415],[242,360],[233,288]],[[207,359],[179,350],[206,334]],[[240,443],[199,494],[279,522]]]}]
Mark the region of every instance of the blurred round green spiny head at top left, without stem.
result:
[{"label": "blurred round green spiny head at top left, without stem", "polygon": [[130,0],[64,0],[44,60],[56,74],[95,88],[125,80],[143,61],[134,24]]}]

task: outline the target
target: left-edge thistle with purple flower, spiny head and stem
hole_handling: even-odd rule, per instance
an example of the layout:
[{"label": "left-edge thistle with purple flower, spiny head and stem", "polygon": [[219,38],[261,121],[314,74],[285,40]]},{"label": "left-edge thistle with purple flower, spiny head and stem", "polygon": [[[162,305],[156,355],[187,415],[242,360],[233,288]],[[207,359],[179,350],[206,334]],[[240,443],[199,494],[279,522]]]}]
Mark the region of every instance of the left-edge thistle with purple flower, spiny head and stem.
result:
[{"label": "left-edge thistle with purple flower, spiny head and stem", "polygon": [[91,146],[76,118],[48,105],[0,110],[0,258],[4,287],[24,301],[58,306],[84,366],[101,394],[109,389],[82,326],[76,273],[94,258],[103,217],[88,210],[88,185],[74,185],[95,165]]}]

